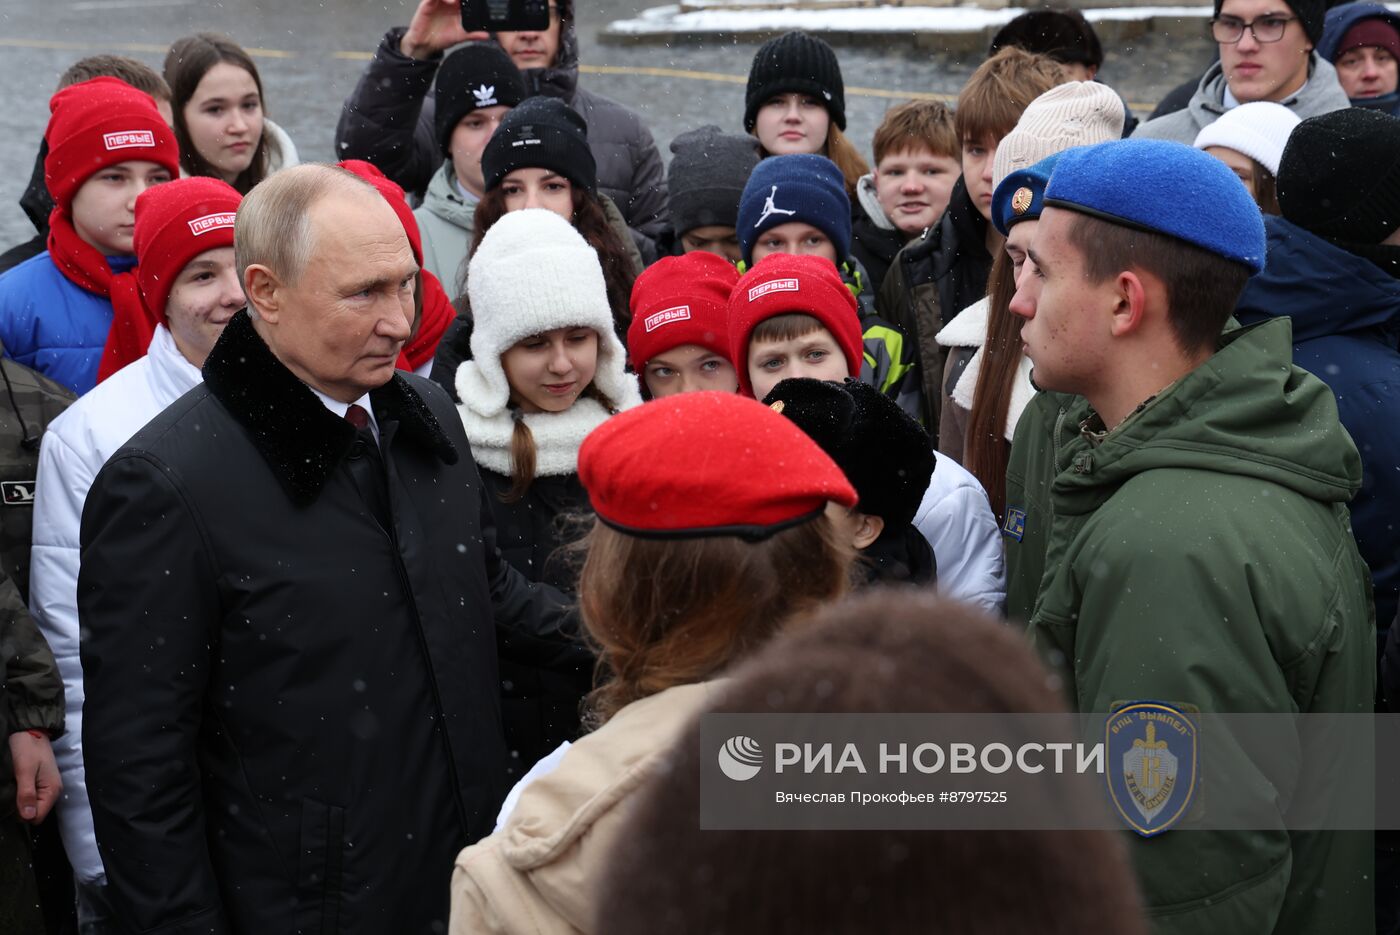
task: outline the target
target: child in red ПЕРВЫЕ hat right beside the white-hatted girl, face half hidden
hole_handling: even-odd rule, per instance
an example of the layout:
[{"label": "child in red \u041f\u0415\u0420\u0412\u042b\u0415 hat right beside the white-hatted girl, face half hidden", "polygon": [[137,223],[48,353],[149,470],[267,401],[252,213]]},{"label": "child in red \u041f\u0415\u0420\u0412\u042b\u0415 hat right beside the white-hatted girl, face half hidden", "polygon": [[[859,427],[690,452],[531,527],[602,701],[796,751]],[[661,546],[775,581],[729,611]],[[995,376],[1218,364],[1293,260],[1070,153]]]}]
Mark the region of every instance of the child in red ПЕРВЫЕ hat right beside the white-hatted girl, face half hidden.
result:
[{"label": "child in red \u041f\u0415\u0420\u0412\u042b\u0415 hat right beside the white-hatted girl, face half hidden", "polygon": [[662,258],[637,277],[627,356],[644,398],[739,388],[728,309],[738,281],[734,265],[704,251]]}]

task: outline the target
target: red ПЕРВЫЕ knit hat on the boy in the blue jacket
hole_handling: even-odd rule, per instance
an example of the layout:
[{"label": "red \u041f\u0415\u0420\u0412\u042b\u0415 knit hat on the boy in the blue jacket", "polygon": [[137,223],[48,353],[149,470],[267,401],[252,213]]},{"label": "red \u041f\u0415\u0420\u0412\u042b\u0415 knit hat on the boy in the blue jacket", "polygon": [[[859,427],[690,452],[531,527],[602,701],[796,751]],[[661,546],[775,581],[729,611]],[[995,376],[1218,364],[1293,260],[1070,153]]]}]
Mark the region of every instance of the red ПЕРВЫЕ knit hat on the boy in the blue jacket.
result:
[{"label": "red \u041f\u0415\u0420\u0412\u042b\u0415 knit hat on the boy in the blue jacket", "polygon": [[78,188],[118,162],[144,160],[179,176],[179,147],[155,101],[118,78],[92,78],[49,98],[43,182],[67,211]]}]

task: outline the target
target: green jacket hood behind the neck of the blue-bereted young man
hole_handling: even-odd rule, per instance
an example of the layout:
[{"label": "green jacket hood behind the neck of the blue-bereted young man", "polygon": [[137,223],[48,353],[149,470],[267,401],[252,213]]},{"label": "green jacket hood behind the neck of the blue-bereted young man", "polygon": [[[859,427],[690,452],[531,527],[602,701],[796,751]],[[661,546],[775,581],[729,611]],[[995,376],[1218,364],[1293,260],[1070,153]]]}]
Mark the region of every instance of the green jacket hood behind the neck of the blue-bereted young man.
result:
[{"label": "green jacket hood behind the neck of the blue-bereted young man", "polygon": [[1319,502],[1361,487],[1361,456],[1320,379],[1292,365],[1288,319],[1226,332],[1205,363],[1163,389],[1054,480],[1056,511],[1088,514],[1155,469],[1257,477]]}]

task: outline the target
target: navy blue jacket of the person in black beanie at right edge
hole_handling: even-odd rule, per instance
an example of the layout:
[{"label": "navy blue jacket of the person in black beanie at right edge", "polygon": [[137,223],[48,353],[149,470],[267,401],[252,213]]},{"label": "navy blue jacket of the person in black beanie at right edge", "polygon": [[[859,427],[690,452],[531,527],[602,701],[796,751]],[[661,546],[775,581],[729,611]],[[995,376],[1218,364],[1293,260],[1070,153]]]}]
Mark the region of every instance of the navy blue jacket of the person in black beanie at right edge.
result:
[{"label": "navy blue jacket of the person in black beanie at right edge", "polygon": [[1291,318],[1294,363],[1337,395],[1341,424],[1361,449],[1351,522],[1383,638],[1400,598],[1400,280],[1281,217],[1266,214],[1264,228],[1268,262],[1235,316],[1245,325]]}]

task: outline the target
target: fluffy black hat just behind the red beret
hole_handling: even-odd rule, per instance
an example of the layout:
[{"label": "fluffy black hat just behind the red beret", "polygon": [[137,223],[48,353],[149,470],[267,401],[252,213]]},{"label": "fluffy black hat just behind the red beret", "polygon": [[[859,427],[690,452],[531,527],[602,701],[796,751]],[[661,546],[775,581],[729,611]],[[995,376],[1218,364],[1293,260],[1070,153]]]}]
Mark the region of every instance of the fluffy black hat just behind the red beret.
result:
[{"label": "fluffy black hat just behind the red beret", "polygon": [[934,442],[914,419],[869,384],[788,378],[763,398],[815,441],[861,498],[855,508],[888,529],[914,522],[934,476]]}]

